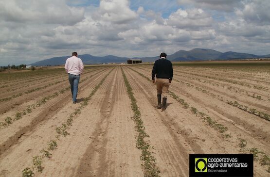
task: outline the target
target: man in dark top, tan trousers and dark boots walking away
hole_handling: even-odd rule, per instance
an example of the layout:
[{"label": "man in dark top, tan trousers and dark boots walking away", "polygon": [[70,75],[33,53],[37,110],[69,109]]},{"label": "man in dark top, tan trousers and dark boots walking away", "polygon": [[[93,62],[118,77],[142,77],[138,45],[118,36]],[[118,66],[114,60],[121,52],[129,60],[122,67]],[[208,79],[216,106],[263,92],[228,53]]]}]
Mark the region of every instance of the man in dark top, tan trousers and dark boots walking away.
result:
[{"label": "man in dark top, tan trousers and dark boots walking away", "polygon": [[[153,66],[152,70],[152,81],[157,85],[158,92],[158,109],[164,111],[166,109],[167,93],[169,90],[169,85],[173,79],[173,65],[171,61],[166,60],[167,54],[161,53],[160,59],[157,60]],[[157,81],[155,80],[157,77]],[[161,95],[162,104],[161,104]]]}]

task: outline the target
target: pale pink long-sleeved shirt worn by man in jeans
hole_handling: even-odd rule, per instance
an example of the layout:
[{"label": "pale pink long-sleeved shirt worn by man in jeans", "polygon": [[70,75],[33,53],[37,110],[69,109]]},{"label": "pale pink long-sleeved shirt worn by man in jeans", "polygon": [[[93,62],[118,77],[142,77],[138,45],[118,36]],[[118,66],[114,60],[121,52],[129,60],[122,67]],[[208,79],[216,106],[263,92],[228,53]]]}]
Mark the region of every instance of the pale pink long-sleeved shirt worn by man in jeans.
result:
[{"label": "pale pink long-sleeved shirt worn by man in jeans", "polygon": [[72,56],[67,59],[65,64],[65,69],[69,74],[79,75],[82,74],[84,69],[84,64],[82,60],[76,56]]}]

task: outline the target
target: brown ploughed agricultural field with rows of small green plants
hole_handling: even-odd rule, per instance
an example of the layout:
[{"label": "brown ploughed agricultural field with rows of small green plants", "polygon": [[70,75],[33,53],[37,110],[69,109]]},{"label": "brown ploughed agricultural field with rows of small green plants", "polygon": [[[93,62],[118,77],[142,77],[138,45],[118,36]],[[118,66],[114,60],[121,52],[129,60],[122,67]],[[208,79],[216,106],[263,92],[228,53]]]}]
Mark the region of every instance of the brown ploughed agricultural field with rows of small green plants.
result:
[{"label": "brown ploughed agricultural field with rows of small green plants", "polygon": [[0,73],[0,177],[188,177],[189,154],[253,154],[270,176],[270,62],[174,63],[157,109],[152,64]]}]

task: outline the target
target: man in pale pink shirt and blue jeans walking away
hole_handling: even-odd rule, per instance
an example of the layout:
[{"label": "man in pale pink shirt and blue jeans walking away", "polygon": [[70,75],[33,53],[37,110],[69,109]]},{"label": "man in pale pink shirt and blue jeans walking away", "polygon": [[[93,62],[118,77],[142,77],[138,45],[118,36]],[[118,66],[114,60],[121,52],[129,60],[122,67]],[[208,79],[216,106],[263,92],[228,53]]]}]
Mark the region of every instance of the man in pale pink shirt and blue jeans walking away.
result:
[{"label": "man in pale pink shirt and blue jeans walking away", "polygon": [[72,57],[67,59],[65,69],[69,73],[72,101],[73,104],[75,104],[77,103],[77,94],[80,76],[84,69],[83,62],[80,58],[78,58],[77,52],[72,52]]}]

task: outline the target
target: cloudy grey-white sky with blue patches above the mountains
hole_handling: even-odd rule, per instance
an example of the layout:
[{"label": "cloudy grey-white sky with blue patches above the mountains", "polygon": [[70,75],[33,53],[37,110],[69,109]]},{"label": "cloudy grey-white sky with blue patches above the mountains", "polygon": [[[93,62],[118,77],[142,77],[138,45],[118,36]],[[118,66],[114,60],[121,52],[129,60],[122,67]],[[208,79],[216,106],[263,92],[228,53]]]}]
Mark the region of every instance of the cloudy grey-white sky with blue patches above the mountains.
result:
[{"label": "cloudy grey-white sky with blue patches above the mountains", "polygon": [[269,0],[0,0],[0,65],[193,48],[270,54]]}]

